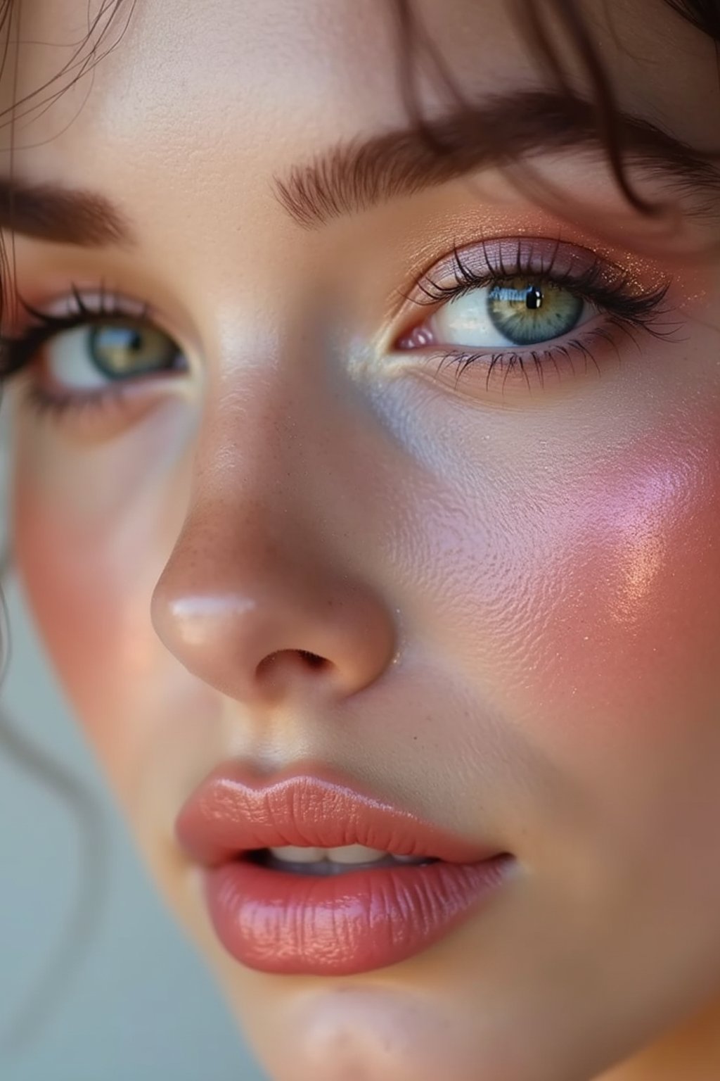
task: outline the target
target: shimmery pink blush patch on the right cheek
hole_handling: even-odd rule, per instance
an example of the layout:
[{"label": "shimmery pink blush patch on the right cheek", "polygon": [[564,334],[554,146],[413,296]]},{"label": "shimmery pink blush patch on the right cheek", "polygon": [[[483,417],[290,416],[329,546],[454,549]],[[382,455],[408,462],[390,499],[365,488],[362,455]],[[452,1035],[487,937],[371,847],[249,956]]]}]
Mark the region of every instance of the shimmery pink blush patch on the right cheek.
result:
[{"label": "shimmery pink blush patch on the right cheek", "polygon": [[568,491],[521,680],[530,716],[560,742],[674,737],[720,699],[718,430],[656,432]]}]

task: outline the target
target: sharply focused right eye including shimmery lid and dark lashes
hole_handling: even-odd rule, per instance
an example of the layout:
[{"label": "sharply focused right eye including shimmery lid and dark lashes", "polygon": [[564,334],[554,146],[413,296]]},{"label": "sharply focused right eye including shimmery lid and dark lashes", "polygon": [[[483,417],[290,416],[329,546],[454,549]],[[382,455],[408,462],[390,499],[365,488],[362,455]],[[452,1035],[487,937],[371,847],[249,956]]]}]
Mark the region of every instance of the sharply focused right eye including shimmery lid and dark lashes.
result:
[{"label": "sharply focused right eye including shimmery lid and dark lashes", "polygon": [[566,369],[576,375],[592,365],[600,373],[606,358],[622,361],[642,333],[671,336],[680,325],[668,319],[671,284],[658,272],[643,288],[622,264],[549,238],[484,240],[454,248],[416,279],[406,298],[432,304],[433,312],[396,338],[393,350],[411,370],[439,359],[434,376],[450,382],[451,372],[453,388],[467,378],[479,389],[481,373],[486,391],[495,379],[503,395],[506,385],[510,392],[531,391],[531,379],[552,389]]}]

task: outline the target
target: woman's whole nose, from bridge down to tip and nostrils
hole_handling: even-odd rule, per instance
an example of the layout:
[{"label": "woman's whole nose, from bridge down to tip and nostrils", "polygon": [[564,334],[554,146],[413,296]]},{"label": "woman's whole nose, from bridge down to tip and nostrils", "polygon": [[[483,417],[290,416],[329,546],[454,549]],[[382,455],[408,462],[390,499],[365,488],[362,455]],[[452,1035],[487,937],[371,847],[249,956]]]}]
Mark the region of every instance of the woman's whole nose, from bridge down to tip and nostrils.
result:
[{"label": "woman's whole nose, from bridge down to tip and nostrils", "polygon": [[188,670],[236,699],[347,694],[394,655],[393,609],[359,569],[340,478],[328,476],[344,437],[323,409],[338,408],[275,373],[206,410],[152,617]]}]

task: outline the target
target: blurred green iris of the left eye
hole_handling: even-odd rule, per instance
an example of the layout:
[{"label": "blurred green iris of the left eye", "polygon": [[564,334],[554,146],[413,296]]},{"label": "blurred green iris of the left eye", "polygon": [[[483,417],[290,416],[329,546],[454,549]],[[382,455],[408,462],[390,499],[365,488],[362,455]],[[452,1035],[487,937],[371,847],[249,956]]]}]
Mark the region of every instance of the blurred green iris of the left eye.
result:
[{"label": "blurred green iris of the left eye", "polygon": [[110,379],[172,369],[179,358],[167,334],[132,319],[91,326],[87,344],[93,362]]}]

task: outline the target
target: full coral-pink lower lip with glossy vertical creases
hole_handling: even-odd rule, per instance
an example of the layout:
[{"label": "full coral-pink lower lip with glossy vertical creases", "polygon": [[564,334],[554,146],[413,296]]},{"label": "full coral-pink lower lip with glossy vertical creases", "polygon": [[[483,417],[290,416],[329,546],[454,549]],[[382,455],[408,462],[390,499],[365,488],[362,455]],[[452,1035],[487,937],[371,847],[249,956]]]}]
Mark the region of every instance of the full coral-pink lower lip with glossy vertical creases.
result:
[{"label": "full coral-pink lower lip with glossy vertical creases", "polygon": [[206,871],[218,938],[237,961],[284,975],[351,976],[397,964],[473,915],[512,856],[320,877],[237,859]]}]

